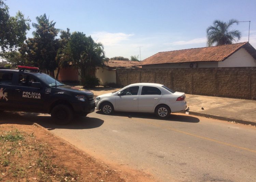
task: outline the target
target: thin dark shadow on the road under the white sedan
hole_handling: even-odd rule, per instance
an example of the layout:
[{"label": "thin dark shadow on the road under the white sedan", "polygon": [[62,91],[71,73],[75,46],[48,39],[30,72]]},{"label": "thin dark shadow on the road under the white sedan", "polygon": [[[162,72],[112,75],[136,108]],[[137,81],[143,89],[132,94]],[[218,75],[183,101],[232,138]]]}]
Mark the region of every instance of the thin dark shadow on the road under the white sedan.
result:
[{"label": "thin dark shadow on the road under the white sedan", "polygon": [[[102,114],[100,111],[96,112],[97,114]],[[200,120],[197,117],[189,116],[189,115],[177,115],[171,114],[167,119],[160,119],[155,116],[153,113],[139,113],[139,112],[115,112],[112,115],[114,116],[125,116],[125,117],[136,117],[136,118],[144,118],[144,119],[154,119],[154,120],[163,120],[163,121],[178,121],[178,122],[188,122],[188,123],[199,123]]]}]

